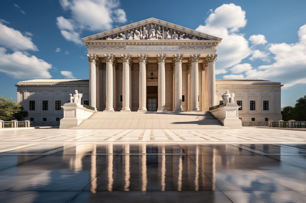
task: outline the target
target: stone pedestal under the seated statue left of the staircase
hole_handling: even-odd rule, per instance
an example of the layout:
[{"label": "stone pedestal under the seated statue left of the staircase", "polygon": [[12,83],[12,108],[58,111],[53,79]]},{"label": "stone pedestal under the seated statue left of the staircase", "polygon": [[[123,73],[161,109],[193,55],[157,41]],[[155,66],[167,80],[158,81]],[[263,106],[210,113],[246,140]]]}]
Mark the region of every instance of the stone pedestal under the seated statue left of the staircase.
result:
[{"label": "stone pedestal under the seated statue left of the staircase", "polygon": [[60,121],[60,129],[78,126],[95,112],[77,103],[66,103],[61,107],[64,109],[64,118]]}]

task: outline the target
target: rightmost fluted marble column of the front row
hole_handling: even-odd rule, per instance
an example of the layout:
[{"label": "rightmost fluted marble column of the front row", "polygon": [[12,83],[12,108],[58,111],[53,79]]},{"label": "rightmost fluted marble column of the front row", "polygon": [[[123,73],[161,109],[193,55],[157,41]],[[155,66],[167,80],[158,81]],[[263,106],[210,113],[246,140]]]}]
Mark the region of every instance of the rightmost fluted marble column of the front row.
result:
[{"label": "rightmost fluted marble column of the front row", "polygon": [[208,56],[208,69],[209,69],[209,90],[208,99],[209,107],[216,106],[216,74],[215,74],[215,64],[217,60],[217,55],[207,55]]}]

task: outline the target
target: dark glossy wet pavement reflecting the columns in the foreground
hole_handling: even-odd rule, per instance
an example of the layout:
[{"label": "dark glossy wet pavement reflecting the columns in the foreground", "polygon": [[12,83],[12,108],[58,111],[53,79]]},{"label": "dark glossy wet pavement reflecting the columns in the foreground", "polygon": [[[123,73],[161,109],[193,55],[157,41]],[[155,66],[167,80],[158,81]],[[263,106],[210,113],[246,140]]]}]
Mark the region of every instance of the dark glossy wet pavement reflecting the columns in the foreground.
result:
[{"label": "dark glossy wet pavement reflecting the columns in the foreground", "polygon": [[0,203],[306,202],[305,144],[22,138],[0,143]]}]

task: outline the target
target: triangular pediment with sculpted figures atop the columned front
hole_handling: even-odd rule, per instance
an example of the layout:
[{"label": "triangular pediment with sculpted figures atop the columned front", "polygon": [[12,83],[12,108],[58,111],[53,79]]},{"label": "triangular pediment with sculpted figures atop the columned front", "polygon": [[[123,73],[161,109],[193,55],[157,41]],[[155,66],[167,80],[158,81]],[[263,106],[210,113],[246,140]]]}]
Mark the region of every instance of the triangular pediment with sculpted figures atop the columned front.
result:
[{"label": "triangular pediment with sculpted figures atop the columned front", "polygon": [[212,40],[220,42],[222,38],[207,35],[186,27],[182,27],[156,18],[148,18],[109,31],[84,37],[82,40]]}]

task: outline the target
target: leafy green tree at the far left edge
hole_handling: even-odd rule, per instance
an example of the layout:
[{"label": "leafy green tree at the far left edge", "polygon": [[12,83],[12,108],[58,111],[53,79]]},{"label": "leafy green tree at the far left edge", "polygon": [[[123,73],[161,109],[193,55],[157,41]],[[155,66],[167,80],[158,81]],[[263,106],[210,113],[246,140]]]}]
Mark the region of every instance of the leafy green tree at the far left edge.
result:
[{"label": "leafy green tree at the far left edge", "polygon": [[0,96],[0,120],[22,120],[28,116],[28,112],[25,111],[22,105],[13,101],[12,98],[4,98]]}]

